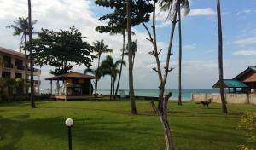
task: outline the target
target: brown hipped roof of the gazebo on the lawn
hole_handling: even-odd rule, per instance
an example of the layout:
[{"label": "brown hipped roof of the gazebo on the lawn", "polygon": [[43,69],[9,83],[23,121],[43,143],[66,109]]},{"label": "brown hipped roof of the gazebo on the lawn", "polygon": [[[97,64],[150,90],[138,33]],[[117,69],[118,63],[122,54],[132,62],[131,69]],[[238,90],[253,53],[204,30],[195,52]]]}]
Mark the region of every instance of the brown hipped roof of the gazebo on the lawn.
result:
[{"label": "brown hipped roof of the gazebo on the lawn", "polygon": [[79,73],[79,72],[70,72],[70,73],[67,73],[67,74],[62,74],[62,75],[51,77],[51,78],[45,78],[45,80],[65,80],[65,79],[71,79],[71,78],[94,79],[96,77],[86,75],[86,74],[82,74],[82,73]]}]

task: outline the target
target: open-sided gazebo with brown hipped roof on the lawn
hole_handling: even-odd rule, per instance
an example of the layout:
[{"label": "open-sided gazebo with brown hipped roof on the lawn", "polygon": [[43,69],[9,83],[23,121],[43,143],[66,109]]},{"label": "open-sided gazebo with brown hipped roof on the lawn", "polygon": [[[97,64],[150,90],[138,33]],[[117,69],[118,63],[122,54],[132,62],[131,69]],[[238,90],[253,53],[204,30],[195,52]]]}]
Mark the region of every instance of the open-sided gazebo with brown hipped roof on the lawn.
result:
[{"label": "open-sided gazebo with brown hipped roof on the lawn", "polygon": [[[45,80],[50,81],[51,98],[70,100],[88,98],[93,92],[90,80],[95,78],[95,76],[84,75],[79,72],[70,72],[51,78],[45,78]],[[57,81],[57,93],[55,95],[53,95],[52,91],[52,81]],[[63,83],[61,89],[60,81]]]}]

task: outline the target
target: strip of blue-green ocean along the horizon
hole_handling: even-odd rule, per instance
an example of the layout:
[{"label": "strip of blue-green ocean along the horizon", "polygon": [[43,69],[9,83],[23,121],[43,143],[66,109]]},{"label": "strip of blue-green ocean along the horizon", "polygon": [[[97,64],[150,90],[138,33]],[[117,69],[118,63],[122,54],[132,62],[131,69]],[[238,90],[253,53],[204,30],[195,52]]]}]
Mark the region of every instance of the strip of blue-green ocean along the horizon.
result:
[{"label": "strip of blue-green ocean along the horizon", "polygon": [[[125,95],[128,95],[128,89],[125,90]],[[183,89],[182,90],[182,98],[183,100],[191,100],[191,93],[218,93],[218,89]],[[166,89],[165,93],[172,92],[172,100],[177,100],[177,89]],[[109,95],[109,89],[99,89],[99,94]],[[134,95],[136,96],[154,96],[157,97],[159,94],[158,89],[135,89]],[[118,94],[119,95],[119,94]]]}]

